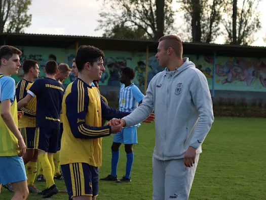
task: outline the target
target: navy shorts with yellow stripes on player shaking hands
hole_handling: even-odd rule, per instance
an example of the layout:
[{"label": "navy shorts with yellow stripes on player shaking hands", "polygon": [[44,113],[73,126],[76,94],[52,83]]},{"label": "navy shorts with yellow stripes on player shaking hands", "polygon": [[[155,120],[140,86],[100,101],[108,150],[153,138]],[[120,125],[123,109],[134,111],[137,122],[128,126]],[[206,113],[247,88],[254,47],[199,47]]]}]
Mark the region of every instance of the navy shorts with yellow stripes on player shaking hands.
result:
[{"label": "navy shorts with yellow stripes on player shaking hands", "polygon": [[69,200],[74,196],[98,196],[99,169],[88,163],[61,165]]}]

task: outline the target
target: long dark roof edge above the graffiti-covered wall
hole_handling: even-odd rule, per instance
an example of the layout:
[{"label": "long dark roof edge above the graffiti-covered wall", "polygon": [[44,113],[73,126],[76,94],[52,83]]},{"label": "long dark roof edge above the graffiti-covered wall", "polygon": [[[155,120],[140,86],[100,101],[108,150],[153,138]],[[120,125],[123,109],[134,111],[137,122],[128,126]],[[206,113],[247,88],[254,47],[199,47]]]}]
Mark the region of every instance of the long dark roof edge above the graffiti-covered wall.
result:
[{"label": "long dark roof edge above the graffiti-covered wall", "polygon": [[[0,34],[1,44],[13,46],[39,46],[56,48],[76,48],[76,45],[93,45],[102,50],[157,52],[158,41],[137,39],[113,39],[90,36],[41,35],[41,34]],[[184,54],[266,57],[266,47],[218,45],[206,43],[183,43]]]}]

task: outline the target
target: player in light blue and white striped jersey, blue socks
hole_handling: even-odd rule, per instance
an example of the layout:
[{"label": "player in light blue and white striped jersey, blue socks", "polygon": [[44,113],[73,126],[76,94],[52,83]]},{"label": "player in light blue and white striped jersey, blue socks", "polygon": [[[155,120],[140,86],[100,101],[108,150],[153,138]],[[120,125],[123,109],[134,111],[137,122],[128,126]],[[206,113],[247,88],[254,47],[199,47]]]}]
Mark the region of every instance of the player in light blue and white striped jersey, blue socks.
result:
[{"label": "player in light blue and white striped jersey, blue socks", "polygon": [[[132,112],[142,102],[144,94],[139,88],[132,83],[135,77],[135,72],[131,68],[123,68],[121,70],[120,82],[123,84],[119,92],[119,110],[123,112]],[[133,144],[137,144],[137,127],[136,124],[131,127],[123,128],[118,134],[113,136],[112,143],[112,160],[111,160],[111,174],[100,180],[116,181],[117,183],[131,182],[130,174],[134,160]],[[125,145],[127,153],[126,175],[122,179],[117,178],[117,167],[119,160],[119,147],[121,143]]]}]

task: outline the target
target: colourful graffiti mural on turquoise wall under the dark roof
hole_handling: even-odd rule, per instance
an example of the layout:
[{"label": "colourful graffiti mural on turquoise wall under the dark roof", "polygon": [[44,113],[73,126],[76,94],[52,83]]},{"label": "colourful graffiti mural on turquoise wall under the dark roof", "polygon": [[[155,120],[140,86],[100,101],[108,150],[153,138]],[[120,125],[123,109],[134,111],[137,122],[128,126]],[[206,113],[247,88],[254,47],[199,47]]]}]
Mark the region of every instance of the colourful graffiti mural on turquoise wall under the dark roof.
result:
[{"label": "colourful graffiti mural on turquoise wall under the dark roof", "polygon": [[[56,60],[59,63],[67,63],[70,68],[72,60],[75,57],[74,49],[60,48],[41,48],[41,47],[19,47],[23,55],[20,61],[23,64],[25,59],[37,60],[40,66],[40,78],[45,77],[43,71],[46,62],[50,59]],[[124,66],[129,66],[135,71],[134,84],[144,86],[145,82],[145,52],[119,52],[119,51],[104,51],[104,66],[105,72],[102,74],[100,85],[120,86],[119,77],[120,70]],[[207,77],[210,89],[212,88],[213,77],[213,56],[196,56],[184,55],[193,61],[196,67]],[[159,66],[155,57],[155,53],[150,53],[148,56],[148,73],[147,84],[164,68]],[[18,82],[23,78],[22,68],[18,75],[12,77]],[[238,57],[220,57],[216,58],[215,66],[215,90],[241,90],[241,91],[266,91],[266,58],[238,58]],[[64,81],[64,84],[69,84],[74,80],[72,74]]]}]

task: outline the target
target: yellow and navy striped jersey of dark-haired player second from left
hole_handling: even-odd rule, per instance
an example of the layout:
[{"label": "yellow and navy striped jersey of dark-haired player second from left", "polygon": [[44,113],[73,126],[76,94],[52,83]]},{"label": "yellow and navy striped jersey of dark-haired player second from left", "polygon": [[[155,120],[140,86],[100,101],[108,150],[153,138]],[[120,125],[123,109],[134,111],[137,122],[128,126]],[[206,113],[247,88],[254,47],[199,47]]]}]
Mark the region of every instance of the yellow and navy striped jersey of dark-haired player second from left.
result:
[{"label": "yellow and navy striped jersey of dark-haired player second from left", "polygon": [[[33,82],[29,82],[25,79],[21,79],[16,85],[16,98],[17,102],[19,102],[22,98],[27,95],[27,91],[32,86]],[[19,109],[19,111],[23,111],[24,115],[18,121],[18,128],[26,128],[26,127],[36,127],[36,105],[37,100],[36,96],[30,99],[29,103]]]}]

